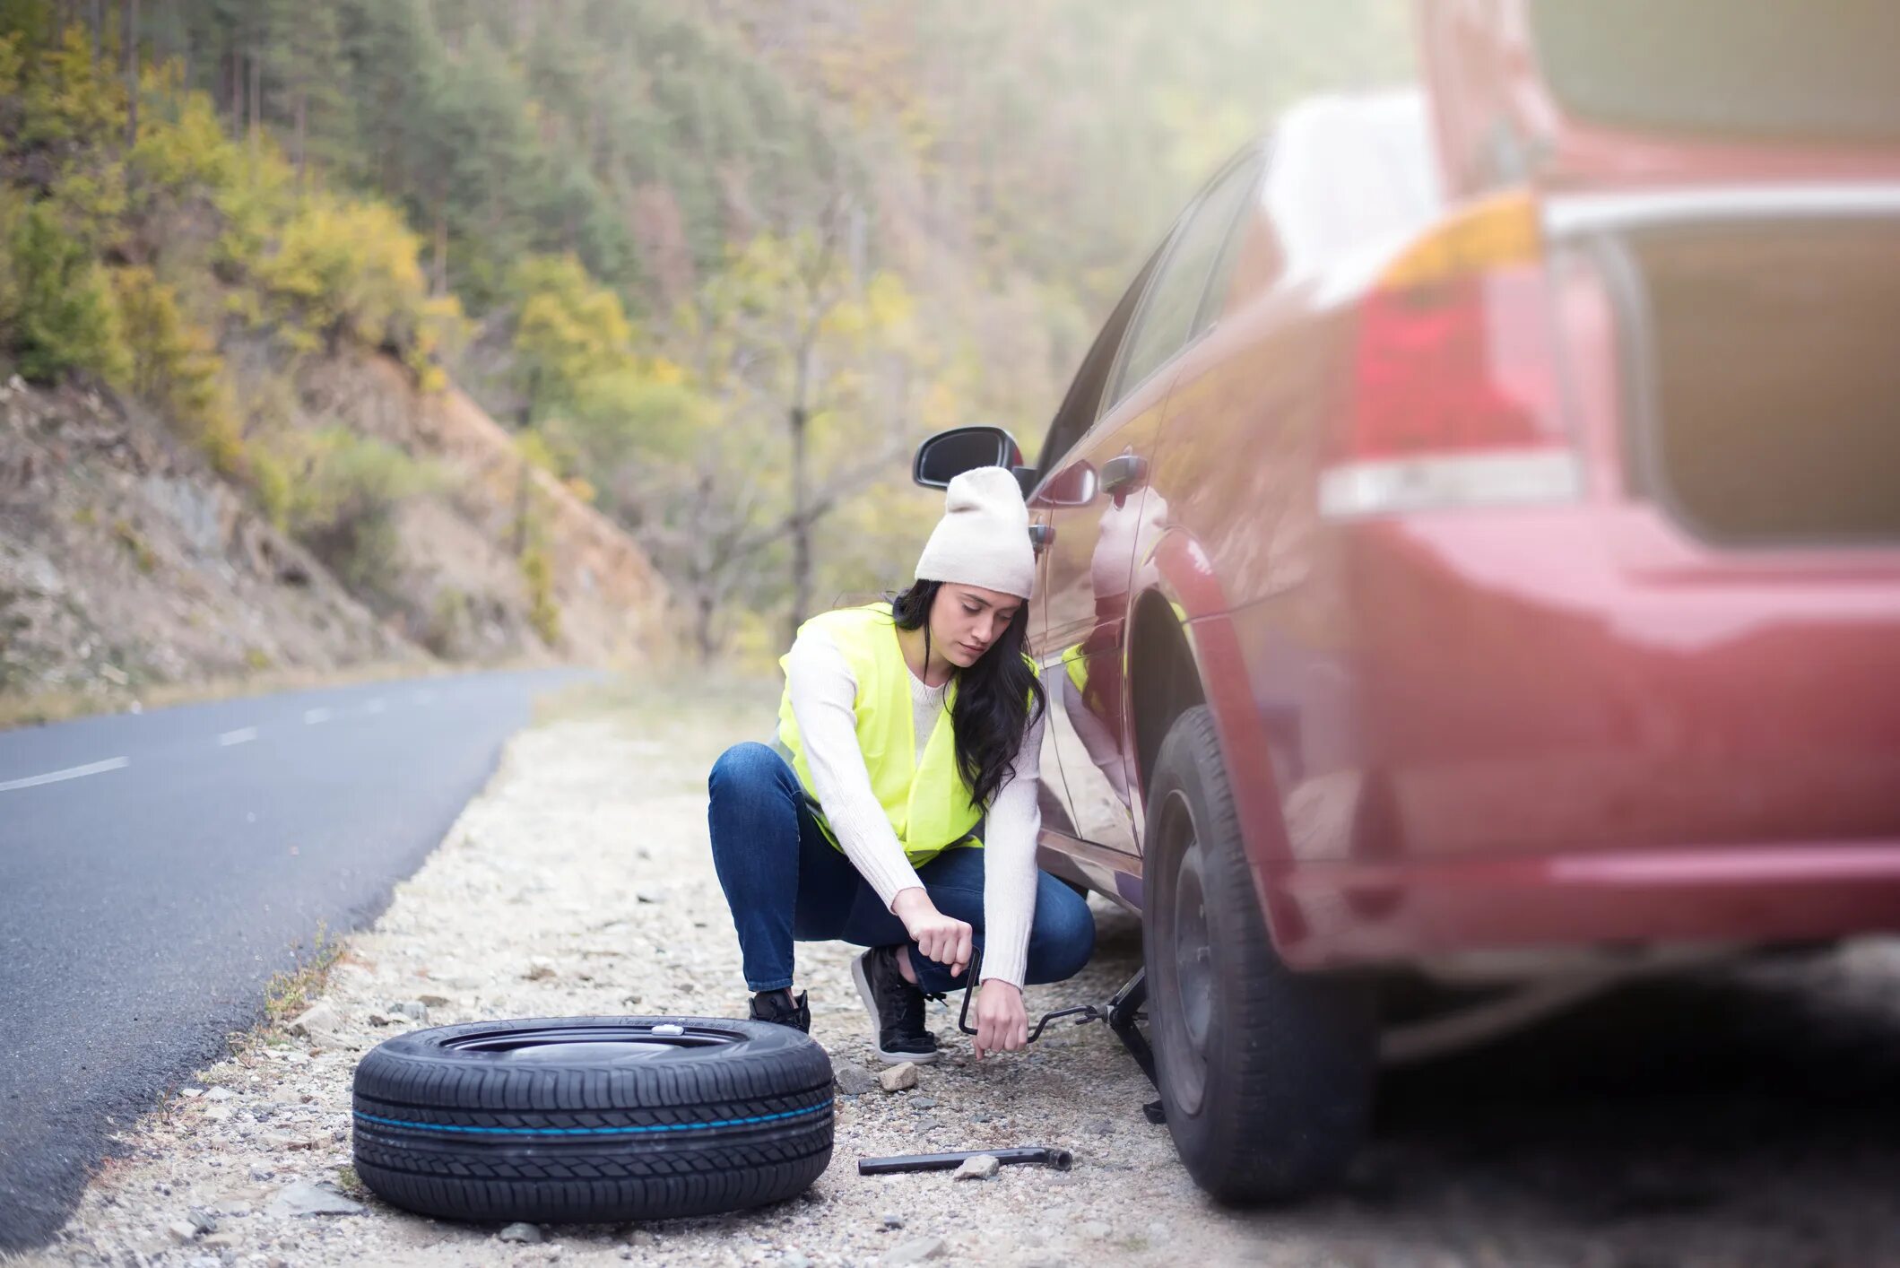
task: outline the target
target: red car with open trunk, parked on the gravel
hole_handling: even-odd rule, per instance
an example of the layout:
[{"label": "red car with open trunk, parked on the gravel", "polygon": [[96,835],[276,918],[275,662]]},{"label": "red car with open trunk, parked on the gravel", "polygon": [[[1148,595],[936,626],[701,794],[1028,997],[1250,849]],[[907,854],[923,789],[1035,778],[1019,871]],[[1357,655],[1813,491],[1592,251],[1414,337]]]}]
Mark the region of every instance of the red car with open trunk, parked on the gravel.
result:
[{"label": "red car with open trunk, parked on the gravel", "polygon": [[1419,15],[1425,87],[1182,213],[1026,475],[1043,867],[1142,913],[1233,1201],[1336,1177],[1381,1055],[1900,928],[1900,10]]}]

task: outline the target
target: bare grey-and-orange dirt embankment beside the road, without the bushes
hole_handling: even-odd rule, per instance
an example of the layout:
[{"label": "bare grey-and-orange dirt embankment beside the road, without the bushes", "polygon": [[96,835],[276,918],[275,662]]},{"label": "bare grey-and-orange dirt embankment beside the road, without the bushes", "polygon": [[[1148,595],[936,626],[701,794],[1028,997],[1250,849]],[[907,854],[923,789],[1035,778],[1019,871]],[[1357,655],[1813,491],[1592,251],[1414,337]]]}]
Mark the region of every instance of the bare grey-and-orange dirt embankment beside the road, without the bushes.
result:
[{"label": "bare grey-and-orange dirt embankment beside the road, without the bushes", "polygon": [[386,441],[429,475],[393,509],[374,586],[346,586],[137,403],[0,386],[0,700],[78,701],[65,713],[369,665],[635,665],[667,644],[640,548],[524,468],[464,394],[346,357],[300,375],[291,416]]}]

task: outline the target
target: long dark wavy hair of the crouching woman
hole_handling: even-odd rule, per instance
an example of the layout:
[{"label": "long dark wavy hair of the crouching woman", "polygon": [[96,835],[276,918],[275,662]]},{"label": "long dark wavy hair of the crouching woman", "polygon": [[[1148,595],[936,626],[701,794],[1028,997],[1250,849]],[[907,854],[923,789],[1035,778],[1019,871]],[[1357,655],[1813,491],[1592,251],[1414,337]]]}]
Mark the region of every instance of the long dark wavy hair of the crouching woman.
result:
[{"label": "long dark wavy hair of the crouching woman", "polygon": [[[891,616],[897,618],[899,629],[923,629],[925,667],[931,663],[931,608],[940,589],[942,582],[918,582],[891,599]],[[1022,749],[1022,732],[1032,717],[1041,717],[1049,707],[1043,684],[1022,660],[1022,641],[1028,631],[1030,605],[1024,603],[977,663],[958,671],[956,705],[950,709],[956,764],[963,772],[963,783],[969,785],[971,802],[978,808],[988,808],[990,798],[1009,783],[1016,753]]]}]

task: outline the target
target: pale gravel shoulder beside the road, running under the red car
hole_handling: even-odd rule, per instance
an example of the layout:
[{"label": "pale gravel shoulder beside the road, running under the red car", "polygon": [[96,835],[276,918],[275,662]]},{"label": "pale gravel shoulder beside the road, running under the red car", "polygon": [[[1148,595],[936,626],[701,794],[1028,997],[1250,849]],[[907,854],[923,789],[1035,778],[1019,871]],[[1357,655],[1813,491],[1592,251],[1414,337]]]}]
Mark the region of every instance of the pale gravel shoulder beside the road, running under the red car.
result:
[{"label": "pale gravel shoulder beside the road, running under the red car", "polygon": [[[1890,1105],[1900,1074],[1890,945],[1693,985],[1693,1006],[1668,992],[1623,1000],[1615,1008],[1638,1019],[1621,1028],[1592,1013],[1530,1040],[1545,1047],[1528,1057],[1507,1047],[1395,1080],[1379,1139],[1347,1190],[1290,1213],[1235,1215],[1201,1198],[1167,1129],[1142,1118],[1151,1091],[1106,1027],[1054,1028],[1024,1055],[978,1063],[952,1013],[933,1023],[948,1061],[923,1068],[912,1091],[840,1095],[830,1169],[777,1207],[517,1230],[509,1236],[540,1239],[515,1241],[361,1190],[350,1171],[350,1080],[361,1053],[397,1028],[743,1015],[739,949],[707,852],[705,772],[728,743],[760,738],[770,717],[766,688],[709,698],[697,686],[690,698],[591,688],[585,703],[545,711],[384,916],[346,939],[323,996],[331,1021],[308,1034],[277,1025],[241,1036],[228,1061],[127,1127],[124,1154],[59,1239],[15,1262],[1900,1262],[1900,1122],[1860,1099],[1885,1087]],[[1138,926],[1108,905],[1096,914],[1094,964],[1077,981],[1032,989],[1032,1013],[1102,1000],[1138,964]],[[800,979],[834,1066],[876,1072],[851,954],[802,945]],[[1828,998],[1820,1011],[1816,990]],[[1659,1040],[1674,1061],[1657,1063],[1628,1038],[1644,1036],[1657,1009],[1676,1019],[1680,1032]],[[1723,1036],[1759,1040],[1782,1021],[1820,1038],[1794,1051],[1758,1042],[1737,1068]],[[1623,1038],[1604,1047],[1602,1034]],[[1649,1053],[1647,1065],[1626,1047]],[[1727,1053],[1714,1080],[1697,1065],[1706,1051]],[[1056,1144],[1077,1165],[963,1182],[855,1173],[861,1156],[992,1144]],[[327,1211],[298,1213],[310,1207]]]}]

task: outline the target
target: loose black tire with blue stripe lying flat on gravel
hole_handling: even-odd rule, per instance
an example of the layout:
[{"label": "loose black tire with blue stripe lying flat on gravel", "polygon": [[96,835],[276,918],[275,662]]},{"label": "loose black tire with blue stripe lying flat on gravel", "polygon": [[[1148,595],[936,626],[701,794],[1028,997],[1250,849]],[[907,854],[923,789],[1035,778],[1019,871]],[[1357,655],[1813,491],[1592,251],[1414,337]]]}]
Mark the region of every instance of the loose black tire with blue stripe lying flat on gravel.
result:
[{"label": "loose black tire with blue stripe lying flat on gravel", "polygon": [[355,1072],[355,1171],[460,1220],[616,1222],[804,1192],[832,1152],[809,1036],[718,1017],[475,1021],[384,1040]]}]

